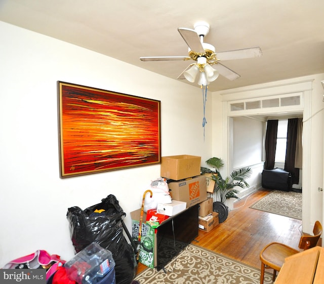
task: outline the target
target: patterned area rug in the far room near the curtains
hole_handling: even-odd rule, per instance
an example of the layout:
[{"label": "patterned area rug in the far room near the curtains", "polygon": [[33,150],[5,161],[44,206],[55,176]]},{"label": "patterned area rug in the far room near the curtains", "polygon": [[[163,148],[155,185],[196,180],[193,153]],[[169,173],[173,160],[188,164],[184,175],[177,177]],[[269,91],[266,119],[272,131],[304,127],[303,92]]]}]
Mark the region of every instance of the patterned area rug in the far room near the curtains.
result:
[{"label": "patterned area rug in the far room near the curtains", "polygon": [[250,208],[302,220],[302,193],[274,190]]}]

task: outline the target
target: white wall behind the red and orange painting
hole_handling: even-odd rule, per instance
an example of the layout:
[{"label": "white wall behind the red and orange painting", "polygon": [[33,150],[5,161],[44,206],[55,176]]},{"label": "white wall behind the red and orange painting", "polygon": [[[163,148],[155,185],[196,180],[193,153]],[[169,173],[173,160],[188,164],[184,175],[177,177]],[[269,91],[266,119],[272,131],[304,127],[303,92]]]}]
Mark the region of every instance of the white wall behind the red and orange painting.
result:
[{"label": "white wall behind the red and orange painting", "polygon": [[[0,22],[0,267],[38,249],[73,255],[67,209],[114,194],[127,214],[140,208],[160,166],[59,178],[57,81],[161,101],[162,155],[211,157],[200,89],[59,40]],[[109,48],[109,46],[107,46]]]}]

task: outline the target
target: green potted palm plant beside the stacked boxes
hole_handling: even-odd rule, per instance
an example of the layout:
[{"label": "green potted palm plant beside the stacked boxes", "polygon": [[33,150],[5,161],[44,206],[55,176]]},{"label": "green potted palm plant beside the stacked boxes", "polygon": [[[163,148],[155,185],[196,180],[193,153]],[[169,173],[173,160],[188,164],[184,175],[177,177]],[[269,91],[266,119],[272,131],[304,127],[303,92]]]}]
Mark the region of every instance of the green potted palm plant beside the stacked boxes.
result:
[{"label": "green potted palm plant beside the stacked boxes", "polygon": [[216,201],[213,204],[213,211],[219,213],[219,222],[224,222],[228,216],[228,207],[225,201],[228,198],[239,199],[237,194],[239,191],[235,187],[247,188],[249,184],[246,179],[251,177],[250,168],[242,168],[235,170],[229,177],[225,179],[220,174],[220,169],[224,167],[224,162],[221,158],[213,157],[206,161],[207,165],[213,169],[202,168],[201,174],[209,173],[212,180],[215,181],[214,194]]}]

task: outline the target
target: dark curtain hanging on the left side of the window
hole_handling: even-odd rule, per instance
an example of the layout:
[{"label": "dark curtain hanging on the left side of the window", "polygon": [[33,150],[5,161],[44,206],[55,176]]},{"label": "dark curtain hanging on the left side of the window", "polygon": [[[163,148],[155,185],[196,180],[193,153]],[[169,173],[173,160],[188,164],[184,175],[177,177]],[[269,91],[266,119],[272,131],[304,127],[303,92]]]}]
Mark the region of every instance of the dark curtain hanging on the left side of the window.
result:
[{"label": "dark curtain hanging on the left side of the window", "polygon": [[275,148],[277,146],[278,120],[267,121],[267,132],[265,135],[265,162],[264,169],[274,168]]}]

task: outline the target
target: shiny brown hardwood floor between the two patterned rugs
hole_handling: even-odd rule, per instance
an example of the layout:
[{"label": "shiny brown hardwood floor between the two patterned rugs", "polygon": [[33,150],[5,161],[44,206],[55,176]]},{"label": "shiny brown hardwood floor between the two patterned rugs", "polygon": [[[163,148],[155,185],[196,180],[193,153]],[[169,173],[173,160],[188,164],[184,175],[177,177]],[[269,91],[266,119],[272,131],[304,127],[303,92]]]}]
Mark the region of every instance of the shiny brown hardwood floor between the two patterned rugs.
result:
[{"label": "shiny brown hardwood floor between the two patterned rugs", "polygon": [[[197,245],[260,269],[260,251],[278,241],[298,249],[302,222],[249,208],[271,190],[259,189],[234,204],[228,218],[212,231],[199,230]],[[138,273],[146,266],[139,263]]]}]

